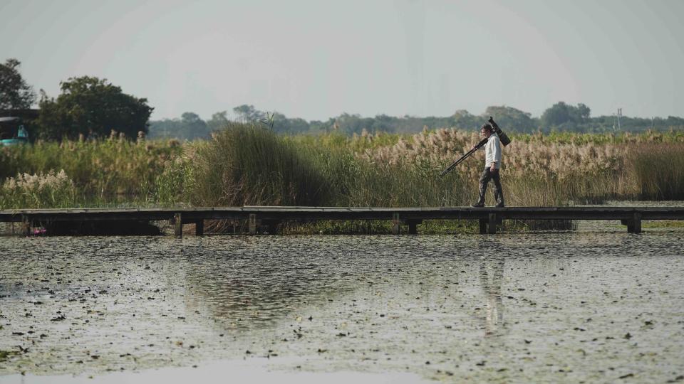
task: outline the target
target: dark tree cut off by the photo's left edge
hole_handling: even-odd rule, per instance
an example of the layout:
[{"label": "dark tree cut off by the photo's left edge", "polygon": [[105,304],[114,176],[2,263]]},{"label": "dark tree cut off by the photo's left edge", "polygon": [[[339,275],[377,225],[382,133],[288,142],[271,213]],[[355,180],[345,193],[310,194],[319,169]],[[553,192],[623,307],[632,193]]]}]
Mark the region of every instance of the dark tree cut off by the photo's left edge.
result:
[{"label": "dark tree cut off by the photo's left edge", "polygon": [[0,110],[26,110],[36,102],[36,92],[19,73],[19,60],[0,64]]}]

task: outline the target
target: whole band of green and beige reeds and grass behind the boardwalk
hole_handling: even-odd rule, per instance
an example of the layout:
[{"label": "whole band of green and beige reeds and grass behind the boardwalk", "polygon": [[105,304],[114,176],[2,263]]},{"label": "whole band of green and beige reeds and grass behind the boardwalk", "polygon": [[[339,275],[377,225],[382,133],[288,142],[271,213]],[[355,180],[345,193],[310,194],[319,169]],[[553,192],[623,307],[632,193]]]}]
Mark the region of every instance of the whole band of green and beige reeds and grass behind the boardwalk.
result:
[{"label": "whole band of green and beige reeds and grass behind the boardwalk", "polygon": [[[260,126],[231,124],[206,142],[130,142],[115,136],[38,142],[0,149],[0,208],[469,206],[477,198],[481,163],[476,157],[482,154],[443,178],[437,174],[473,137],[472,132],[437,131],[415,136],[331,133],[290,137]],[[509,162],[504,160],[502,183],[508,206],[684,198],[682,132],[517,134],[512,139],[529,146],[522,146],[525,153],[507,147]],[[385,149],[393,151],[376,156]],[[561,149],[565,158],[559,158]],[[595,159],[593,154],[601,149],[611,149],[609,156],[614,158]],[[408,156],[412,153],[419,156]],[[517,161],[523,165],[514,166],[516,157],[534,161]],[[554,161],[561,164],[550,171]],[[564,161],[591,166],[565,166]],[[606,161],[610,165],[604,164]],[[19,175],[46,178],[61,170],[66,175],[63,183],[38,182],[41,188],[16,183]],[[489,191],[487,205],[493,204]],[[373,233],[391,231],[388,223],[373,225]],[[539,228],[534,222],[510,225],[520,230]],[[571,228],[571,223],[551,226],[569,225]],[[420,228],[421,233],[472,232],[477,223],[430,222]],[[366,223],[323,222],[288,230],[365,233]]]}]

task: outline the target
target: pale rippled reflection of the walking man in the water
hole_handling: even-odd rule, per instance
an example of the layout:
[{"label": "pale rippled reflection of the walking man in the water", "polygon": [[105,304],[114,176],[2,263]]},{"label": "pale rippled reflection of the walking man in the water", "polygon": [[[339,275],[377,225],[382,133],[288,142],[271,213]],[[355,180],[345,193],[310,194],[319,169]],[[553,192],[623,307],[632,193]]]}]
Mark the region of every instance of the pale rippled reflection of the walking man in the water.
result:
[{"label": "pale rippled reflection of the walking man in the water", "polygon": [[499,326],[503,322],[503,303],[501,299],[501,283],[504,278],[504,258],[480,258],[480,283],[487,297],[487,314],[484,322],[484,336],[500,334]]}]

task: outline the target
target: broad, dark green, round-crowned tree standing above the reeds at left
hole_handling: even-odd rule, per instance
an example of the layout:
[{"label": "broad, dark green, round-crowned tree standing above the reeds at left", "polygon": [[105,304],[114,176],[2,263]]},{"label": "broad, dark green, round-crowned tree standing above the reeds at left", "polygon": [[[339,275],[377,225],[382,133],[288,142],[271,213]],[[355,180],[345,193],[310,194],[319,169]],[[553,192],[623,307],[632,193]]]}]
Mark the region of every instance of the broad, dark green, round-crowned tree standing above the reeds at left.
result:
[{"label": "broad, dark green, round-crowned tree standing above the reeds at left", "polygon": [[154,109],[147,105],[147,99],[127,95],[107,80],[89,76],[69,78],[60,85],[61,95],[56,99],[42,92],[38,117],[41,138],[59,140],[79,134],[104,137],[112,130],[134,138],[139,131],[147,132],[147,120]]}]

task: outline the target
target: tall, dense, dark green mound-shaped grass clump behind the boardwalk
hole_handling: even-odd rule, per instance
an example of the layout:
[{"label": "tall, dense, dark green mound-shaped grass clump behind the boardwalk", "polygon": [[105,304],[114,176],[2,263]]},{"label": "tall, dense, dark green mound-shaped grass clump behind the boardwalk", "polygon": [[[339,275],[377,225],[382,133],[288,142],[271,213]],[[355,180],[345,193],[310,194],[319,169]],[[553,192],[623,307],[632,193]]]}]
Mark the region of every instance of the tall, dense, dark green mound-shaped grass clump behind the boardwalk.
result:
[{"label": "tall, dense, dark green mound-shaped grass clump behind the boardwalk", "polygon": [[320,206],[331,181],[318,153],[251,124],[230,124],[197,147],[190,203],[205,206]]}]

